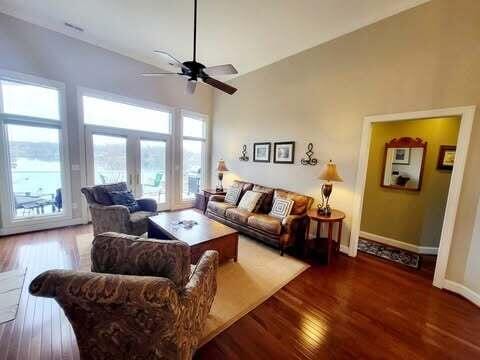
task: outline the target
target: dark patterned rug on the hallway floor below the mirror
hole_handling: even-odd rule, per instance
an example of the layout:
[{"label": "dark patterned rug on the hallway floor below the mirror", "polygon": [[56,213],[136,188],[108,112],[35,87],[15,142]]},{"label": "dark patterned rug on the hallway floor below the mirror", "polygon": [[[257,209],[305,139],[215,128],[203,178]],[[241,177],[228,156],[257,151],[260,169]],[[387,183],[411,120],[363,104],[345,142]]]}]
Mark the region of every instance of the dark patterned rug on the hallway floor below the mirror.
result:
[{"label": "dark patterned rug on the hallway floor below the mirror", "polygon": [[414,269],[420,267],[420,255],[374,241],[359,239],[358,250]]}]

